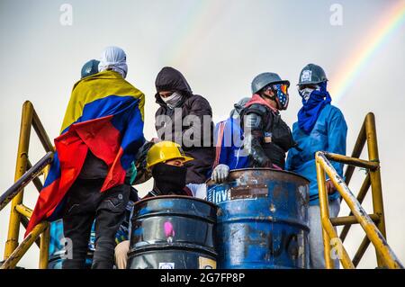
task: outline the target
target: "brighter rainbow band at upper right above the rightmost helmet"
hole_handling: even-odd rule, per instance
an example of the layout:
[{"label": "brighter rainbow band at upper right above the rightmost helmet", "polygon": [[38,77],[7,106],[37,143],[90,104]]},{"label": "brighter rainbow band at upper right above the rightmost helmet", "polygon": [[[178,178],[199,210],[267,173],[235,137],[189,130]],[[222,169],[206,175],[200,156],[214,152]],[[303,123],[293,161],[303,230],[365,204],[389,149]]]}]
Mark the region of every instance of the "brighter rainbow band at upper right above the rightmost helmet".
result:
[{"label": "brighter rainbow band at upper right above the rightmost helmet", "polygon": [[[374,54],[383,47],[392,34],[397,31],[405,21],[405,1],[399,1],[387,13],[381,22],[378,22],[370,36],[360,45],[352,57],[348,58],[345,65],[330,81],[330,92],[335,102],[338,102],[347,89],[353,85],[356,78],[365,69]],[[403,35],[402,35],[403,37]]]}]

